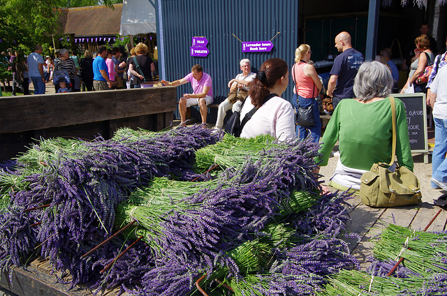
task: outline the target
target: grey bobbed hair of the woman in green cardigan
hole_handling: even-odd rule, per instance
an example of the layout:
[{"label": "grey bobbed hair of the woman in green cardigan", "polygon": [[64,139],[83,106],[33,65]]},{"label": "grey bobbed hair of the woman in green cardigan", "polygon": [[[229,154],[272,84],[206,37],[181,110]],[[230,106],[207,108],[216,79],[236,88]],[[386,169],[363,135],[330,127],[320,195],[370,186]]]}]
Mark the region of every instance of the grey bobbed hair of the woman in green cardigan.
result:
[{"label": "grey bobbed hair of the woman in green cardigan", "polygon": [[393,87],[393,76],[387,66],[379,61],[365,61],[354,80],[354,94],[367,102],[372,98],[386,98]]}]

